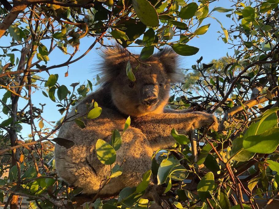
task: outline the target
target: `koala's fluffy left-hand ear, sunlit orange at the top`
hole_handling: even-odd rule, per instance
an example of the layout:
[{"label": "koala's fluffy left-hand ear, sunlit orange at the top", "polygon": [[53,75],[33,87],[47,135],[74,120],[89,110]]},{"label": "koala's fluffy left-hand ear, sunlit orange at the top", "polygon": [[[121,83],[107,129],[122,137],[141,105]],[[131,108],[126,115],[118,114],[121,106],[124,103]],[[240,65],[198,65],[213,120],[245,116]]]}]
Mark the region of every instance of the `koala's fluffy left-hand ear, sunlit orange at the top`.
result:
[{"label": "koala's fluffy left-hand ear, sunlit orange at the top", "polygon": [[105,48],[101,51],[100,56],[102,62],[98,63],[98,71],[101,72],[101,80],[104,83],[109,83],[115,79],[129,60],[128,52],[119,44],[116,44],[115,47]]}]

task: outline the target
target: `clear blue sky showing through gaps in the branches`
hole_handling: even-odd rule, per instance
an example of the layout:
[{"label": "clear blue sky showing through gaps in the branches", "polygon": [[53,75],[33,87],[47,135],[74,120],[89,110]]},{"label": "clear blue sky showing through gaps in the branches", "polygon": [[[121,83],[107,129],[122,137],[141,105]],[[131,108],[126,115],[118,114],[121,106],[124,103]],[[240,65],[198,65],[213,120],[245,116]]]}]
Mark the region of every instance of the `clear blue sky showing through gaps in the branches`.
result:
[{"label": "clear blue sky showing through gaps in the branches", "polygon": [[[221,6],[225,8],[230,8],[232,5],[232,2],[229,0],[219,0],[217,2],[212,3],[209,6],[209,12],[215,7],[215,6]],[[214,12],[213,17],[216,17],[219,21],[222,22],[224,28],[229,28],[230,25],[233,24],[232,20],[228,17],[226,17],[227,13],[218,13]],[[203,56],[204,63],[209,63],[212,59],[218,59],[223,56],[226,56],[226,53],[233,54],[233,49],[228,49],[230,45],[225,44],[222,39],[217,40],[220,33],[217,33],[218,31],[222,31],[220,24],[212,19],[212,18],[206,18],[202,25],[205,24],[211,24],[208,31],[204,35],[200,35],[199,38],[194,38],[190,42],[188,42],[189,45],[198,47],[200,50],[197,54],[189,57],[181,57],[181,68],[191,68],[193,64],[195,64],[196,60]],[[9,38],[2,37],[0,39],[0,46],[9,46]],[[79,55],[83,54],[85,50],[93,43],[95,38],[93,37],[86,37],[81,39],[81,44],[79,48],[79,52],[75,55],[75,57],[78,57]],[[96,47],[100,47],[100,45],[96,45]],[[72,89],[70,87],[70,84],[75,82],[87,83],[87,79],[93,80],[94,77],[96,77],[95,74],[93,74],[91,71],[92,69],[98,67],[98,60],[99,55],[97,53],[97,50],[93,48],[84,58],[80,59],[79,61],[69,65],[69,75],[68,77],[64,77],[64,74],[67,71],[67,67],[62,67],[59,69],[52,69],[49,71],[51,74],[59,74],[58,83],[64,84],[68,87],[68,89]],[[131,49],[131,48],[129,48]],[[70,52],[73,49],[69,49]],[[69,52],[68,50],[68,52]],[[132,52],[139,53],[141,51],[141,48],[139,47],[132,47]],[[15,53],[16,56],[19,57],[19,52]],[[56,49],[49,55],[50,61],[47,63],[47,66],[55,65],[55,64],[61,64],[62,62],[65,62],[68,59],[68,56],[62,53],[61,50]],[[3,63],[2,63],[3,64]],[[42,63],[43,64],[43,63]],[[39,73],[37,74],[45,79],[48,78],[48,75],[46,73]],[[0,98],[2,98],[2,95],[5,91],[0,90]],[[62,115],[57,111],[59,107],[56,106],[57,103],[52,102],[49,98],[46,98],[42,95],[41,90],[35,91],[32,95],[32,103],[36,107],[40,107],[39,103],[46,103],[46,106],[44,106],[44,112],[42,114],[43,118],[47,121],[58,121],[60,118],[62,118]],[[22,108],[27,104],[27,101],[24,99],[20,99],[19,103],[19,109]],[[3,115],[0,113],[0,117],[3,117],[3,119],[7,119],[6,115]],[[3,119],[0,119],[2,121]],[[44,122],[45,126],[47,125],[46,122]],[[23,126],[23,130],[21,131],[23,137],[27,137],[30,133],[30,127],[28,125]]]}]

